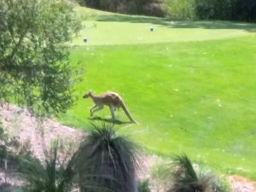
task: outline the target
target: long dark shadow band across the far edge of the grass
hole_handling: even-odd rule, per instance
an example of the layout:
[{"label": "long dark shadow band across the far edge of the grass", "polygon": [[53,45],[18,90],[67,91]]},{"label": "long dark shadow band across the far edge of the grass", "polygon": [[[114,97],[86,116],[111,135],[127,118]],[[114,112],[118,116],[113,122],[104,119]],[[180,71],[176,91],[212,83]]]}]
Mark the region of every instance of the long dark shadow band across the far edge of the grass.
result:
[{"label": "long dark shadow band across the far edge of the grass", "polygon": [[147,17],[139,15],[99,15],[98,21],[108,22],[130,22],[130,23],[151,23],[154,25],[166,26],[171,28],[205,28],[205,29],[237,29],[247,32],[256,32],[255,23],[232,22],[222,20],[170,20],[166,18]]}]

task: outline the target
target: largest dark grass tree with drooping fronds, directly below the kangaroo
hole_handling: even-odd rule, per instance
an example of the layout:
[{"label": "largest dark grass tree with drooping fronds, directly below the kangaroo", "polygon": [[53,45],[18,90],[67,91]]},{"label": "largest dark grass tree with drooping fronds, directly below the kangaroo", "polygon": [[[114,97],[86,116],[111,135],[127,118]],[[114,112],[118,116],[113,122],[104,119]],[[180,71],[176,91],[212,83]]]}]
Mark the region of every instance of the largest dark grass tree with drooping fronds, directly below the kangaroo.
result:
[{"label": "largest dark grass tree with drooping fronds, directly below the kangaroo", "polygon": [[[104,191],[136,191],[137,146],[117,135],[111,125],[94,125],[79,148],[77,163],[80,183],[90,180]],[[80,186],[83,192],[88,190],[88,185]]]}]

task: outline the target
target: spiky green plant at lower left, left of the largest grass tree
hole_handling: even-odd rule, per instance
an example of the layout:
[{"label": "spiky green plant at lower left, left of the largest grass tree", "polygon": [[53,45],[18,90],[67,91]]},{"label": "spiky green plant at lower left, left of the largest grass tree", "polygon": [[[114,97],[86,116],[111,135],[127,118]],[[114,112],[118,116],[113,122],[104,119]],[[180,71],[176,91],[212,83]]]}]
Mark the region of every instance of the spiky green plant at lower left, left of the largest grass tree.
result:
[{"label": "spiky green plant at lower left, left of the largest grass tree", "polygon": [[44,161],[31,155],[20,159],[20,176],[25,180],[26,192],[69,192],[74,172],[73,160],[66,166],[58,160],[59,145],[55,143]]}]

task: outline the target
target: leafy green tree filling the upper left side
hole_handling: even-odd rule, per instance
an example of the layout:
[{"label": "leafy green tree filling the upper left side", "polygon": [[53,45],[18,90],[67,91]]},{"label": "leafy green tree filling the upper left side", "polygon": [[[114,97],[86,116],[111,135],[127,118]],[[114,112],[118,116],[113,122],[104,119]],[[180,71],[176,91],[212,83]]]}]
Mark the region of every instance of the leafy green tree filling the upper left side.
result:
[{"label": "leafy green tree filling the upper left side", "polygon": [[37,113],[73,104],[67,44],[79,30],[66,0],[0,1],[0,100]]}]

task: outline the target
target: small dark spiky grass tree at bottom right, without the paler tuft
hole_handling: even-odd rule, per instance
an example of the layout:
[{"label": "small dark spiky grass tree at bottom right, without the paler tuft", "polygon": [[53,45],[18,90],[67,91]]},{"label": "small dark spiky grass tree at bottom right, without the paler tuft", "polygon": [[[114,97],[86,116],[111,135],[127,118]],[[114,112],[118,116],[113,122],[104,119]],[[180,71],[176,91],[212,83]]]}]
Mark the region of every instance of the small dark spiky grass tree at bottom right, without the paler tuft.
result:
[{"label": "small dark spiky grass tree at bottom right, without the paler tuft", "polygon": [[173,178],[170,192],[206,192],[210,187],[211,177],[195,172],[191,160],[185,154],[174,158]]}]

